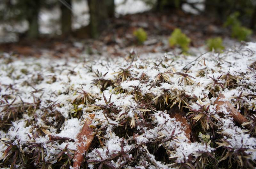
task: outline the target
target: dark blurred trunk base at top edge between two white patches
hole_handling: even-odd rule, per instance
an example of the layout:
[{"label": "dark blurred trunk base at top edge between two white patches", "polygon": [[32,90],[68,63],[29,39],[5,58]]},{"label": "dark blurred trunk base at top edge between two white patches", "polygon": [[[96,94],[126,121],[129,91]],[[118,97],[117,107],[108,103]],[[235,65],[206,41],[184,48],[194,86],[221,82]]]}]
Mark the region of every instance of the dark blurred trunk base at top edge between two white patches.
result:
[{"label": "dark blurred trunk base at top edge between two white patches", "polygon": [[155,10],[164,11],[170,9],[181,9],[183,0],[157,0]]}]

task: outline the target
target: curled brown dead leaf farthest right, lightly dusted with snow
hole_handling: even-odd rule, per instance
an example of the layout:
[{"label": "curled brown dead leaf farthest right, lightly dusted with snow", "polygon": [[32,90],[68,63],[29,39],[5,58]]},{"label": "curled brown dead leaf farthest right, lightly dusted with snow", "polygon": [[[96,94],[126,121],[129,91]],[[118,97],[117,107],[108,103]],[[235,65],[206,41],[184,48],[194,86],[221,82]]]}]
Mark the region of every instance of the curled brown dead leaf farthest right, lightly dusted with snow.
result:
[{"label": "curled brown dead leaf farthest right, lightly dusted with snow", "polygon": [[[231,104],[229,101],[224,101],[225,96],[223,94],[219,94],[217,99],[214,101],[214,105],[216,105],[216,111],[218,114],[223,113],[223,108],[230,113],[230,116],[239,123],[240,125],[243,123],[247,123],[248,120]],[[247,129],[251,129],[252,125],[247,124],[245,125]]]}]

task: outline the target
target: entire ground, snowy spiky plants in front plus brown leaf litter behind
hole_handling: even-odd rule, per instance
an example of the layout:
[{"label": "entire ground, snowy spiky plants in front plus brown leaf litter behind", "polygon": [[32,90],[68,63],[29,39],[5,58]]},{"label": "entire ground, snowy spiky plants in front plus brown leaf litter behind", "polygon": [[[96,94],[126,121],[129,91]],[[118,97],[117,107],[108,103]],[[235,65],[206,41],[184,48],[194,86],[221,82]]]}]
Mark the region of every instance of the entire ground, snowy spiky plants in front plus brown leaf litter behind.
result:
[{"label": "entire ground, snowy spiky plants in front plus brown leaf litter behind", "polygon": [[[186,55],[168,45],[177,27]],[[216,36],[223,53],[204,45]],[[255,167],[256,43],[228,36],[214,19],[144,13],[98,40],[2,45],[0,167]]]}]

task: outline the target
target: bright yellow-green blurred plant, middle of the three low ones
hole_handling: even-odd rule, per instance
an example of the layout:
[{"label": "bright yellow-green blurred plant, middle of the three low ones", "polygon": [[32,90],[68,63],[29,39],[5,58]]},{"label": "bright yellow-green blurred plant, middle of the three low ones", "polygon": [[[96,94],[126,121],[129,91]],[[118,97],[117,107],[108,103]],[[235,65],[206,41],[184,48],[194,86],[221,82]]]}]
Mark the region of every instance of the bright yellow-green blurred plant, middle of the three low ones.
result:
[{"label": "bright yellow-green blurred plant, middle of the three low ones", "polygon": [[190,38],[188,38],[184,33],[182,33],[179,28],[174,29],[171,36],[169,37],[170,46],[180,46],[183,52],[188,51],[190,41]]}]

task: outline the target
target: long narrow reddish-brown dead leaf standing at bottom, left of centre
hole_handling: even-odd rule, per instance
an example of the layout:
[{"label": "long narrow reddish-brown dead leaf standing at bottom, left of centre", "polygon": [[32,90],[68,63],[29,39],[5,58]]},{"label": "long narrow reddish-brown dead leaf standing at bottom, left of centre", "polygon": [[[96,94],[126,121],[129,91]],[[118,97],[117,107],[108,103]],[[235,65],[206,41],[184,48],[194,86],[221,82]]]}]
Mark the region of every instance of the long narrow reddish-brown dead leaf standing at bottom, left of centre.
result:
[{"label": "long narrow reddish-brown dead leaf standing at bottom, left of centre", "polygon": [[74,155],[74,168],[80,168],[83,160],[84,154],[90,147],[94,135],[92,134],[93,128],[90,127],[92,120],[94,119],[95,114],[90,114],[90,118],[86,119],[83,128],[77,135],[77,151]]}]

